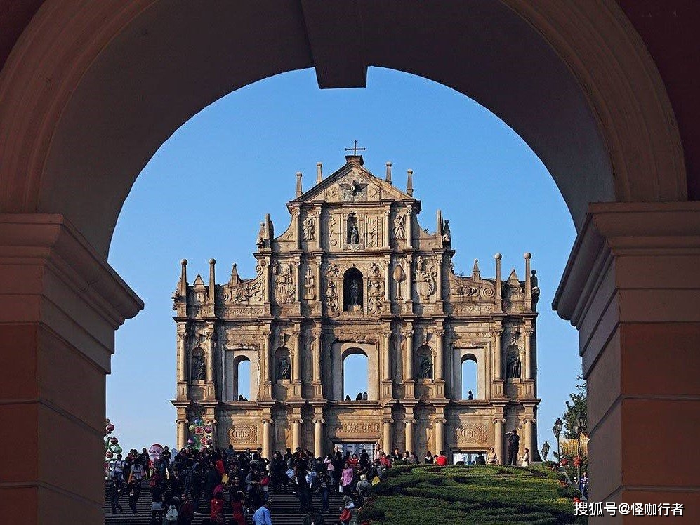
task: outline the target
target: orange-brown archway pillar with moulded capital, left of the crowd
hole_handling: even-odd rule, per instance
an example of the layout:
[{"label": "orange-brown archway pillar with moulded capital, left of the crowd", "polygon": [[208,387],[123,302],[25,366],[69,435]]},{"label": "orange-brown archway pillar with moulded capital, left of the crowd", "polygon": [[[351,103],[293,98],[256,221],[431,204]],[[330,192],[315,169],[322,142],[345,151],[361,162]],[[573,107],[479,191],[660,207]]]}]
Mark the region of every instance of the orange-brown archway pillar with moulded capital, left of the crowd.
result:
[{"label": "orange-brown archway pillar with moulded capital, left of the crowd", "polygon": [[105,376],[143,303],[58,214],[0,214],[0,290],[3,518],[102,523]]}]

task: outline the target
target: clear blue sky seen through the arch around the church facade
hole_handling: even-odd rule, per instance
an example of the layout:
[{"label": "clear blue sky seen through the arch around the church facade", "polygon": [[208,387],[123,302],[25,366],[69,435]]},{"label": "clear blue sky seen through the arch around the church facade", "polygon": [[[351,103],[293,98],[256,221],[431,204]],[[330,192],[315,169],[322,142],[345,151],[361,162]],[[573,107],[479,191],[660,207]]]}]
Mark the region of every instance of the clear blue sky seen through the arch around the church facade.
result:
[{"label": "clear blue sky seen through the arch around the church facade", "polygon": [[[575,231],[560,192],[522,139],[489,110],[435,82],[371,68],[365,89],[319,90],[305,69],[230,93],[196,114],[160,147],[140,173],[119,215],[110,264],[145,302],[117,331],[107,417],[128,448],[175,444],[176,337],[171,293],[186,258],[188,280],[228,280],[237,262],[253,277],[260,220],[275,231],[289,223],[297,171],[304,190],[345,163],[343,148],[358,140],[366,168],[404,187],[414,170],[421,225],[435,229],[435,210],[449,219],[456,272],[494,277],[503,254],[504,279],[532,253],[541,298],[537,320],[539,443],[574,390],[581,365],[576,331],[551,310]],[[345,376],[360,376],[348,374]],[[365,383],[366,384],[366,381]],[[362,380],[350,392],[366,390]]]}]

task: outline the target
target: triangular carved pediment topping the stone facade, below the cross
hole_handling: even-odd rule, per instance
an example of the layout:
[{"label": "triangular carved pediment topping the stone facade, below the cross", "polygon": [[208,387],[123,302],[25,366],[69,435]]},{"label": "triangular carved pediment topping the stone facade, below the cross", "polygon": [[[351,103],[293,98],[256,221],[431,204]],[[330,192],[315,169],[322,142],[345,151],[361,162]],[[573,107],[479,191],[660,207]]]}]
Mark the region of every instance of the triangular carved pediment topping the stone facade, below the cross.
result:
[{"label": "triangular carved pediment topping the stone facade, below the cross", "polygon": [[362,202],[412,199],[358,163],[348,162],[292,202]]}]

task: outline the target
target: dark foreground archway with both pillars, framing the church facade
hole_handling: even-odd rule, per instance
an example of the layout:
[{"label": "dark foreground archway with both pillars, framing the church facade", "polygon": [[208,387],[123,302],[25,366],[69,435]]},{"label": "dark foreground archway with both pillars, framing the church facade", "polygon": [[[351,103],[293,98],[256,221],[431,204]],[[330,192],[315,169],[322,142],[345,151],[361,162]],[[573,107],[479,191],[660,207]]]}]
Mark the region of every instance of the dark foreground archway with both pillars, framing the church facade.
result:
[{"label": "dark foreground archway with both pillars, framing the church facade", "polygon": [[[338,46],[348,31],[362,38]],[[700,209],[687,202],[663,83],[616,4],[288,1],[202,12],[162,0],[47,0],[0,73],[0,340],[22,349],[0,367],[0,383],[15,385],[1,415],[36,437],[21,463],[6,465],[7,519],[102,519],[100,465],[89,458],[102,444],[105,373],[114,330],[143,307],[105,261],[140,169],[213,100],[314,65],[322,88],[362,86],[369,65],[418,74],[520,133],[579,231],[555,307],[581,330],[591,451],[607,452],[605,464],[591,463],[601,480],[591,496],[697,500],[684,489],[694,485],[689,467],[636,459],[649,452],[633,439],[649,410],[663,414],[657,441],[675,450],[694,430],[678,422],[699,412],[687,363],[696,359],[688,342],[700,340],[700,307],[688,307]],[[677,271],[662,280],[669,265]],[[0,432],[0,444],[12,441]],[[59,452],[70,465],[48,460]]]}]

